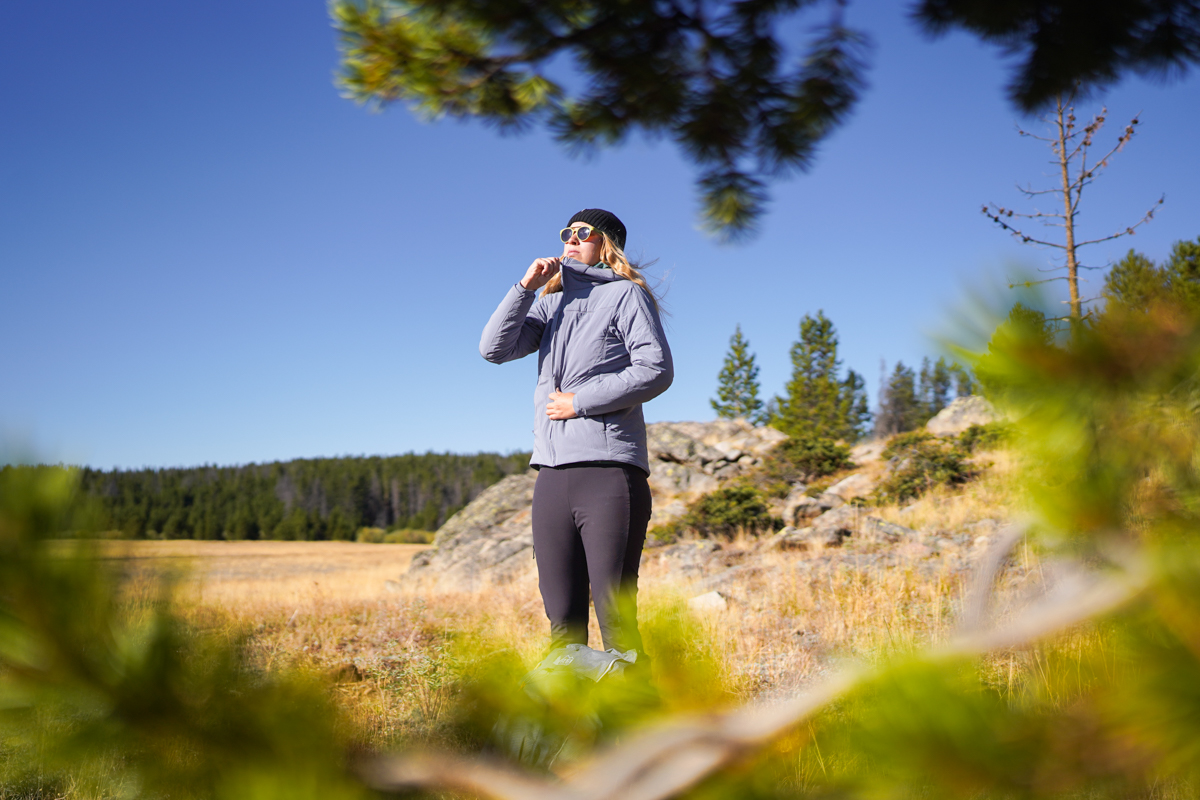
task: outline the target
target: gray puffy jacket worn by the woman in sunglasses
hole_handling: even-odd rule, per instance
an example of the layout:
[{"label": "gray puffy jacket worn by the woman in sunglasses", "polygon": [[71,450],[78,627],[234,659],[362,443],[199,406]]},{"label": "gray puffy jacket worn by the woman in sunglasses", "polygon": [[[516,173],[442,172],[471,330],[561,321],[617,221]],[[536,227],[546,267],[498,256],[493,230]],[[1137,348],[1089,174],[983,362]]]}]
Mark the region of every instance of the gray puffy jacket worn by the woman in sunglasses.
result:
[{"label": "gray puffy jacket worn by the woman in sunglasses", "polygon": [[[642,403],[674,377],[662,323],[646,290],[612,270],[562,260],[563,290],[509,289],[479,351],[504,363],[538,351],[530,464],[614,461],[650,471]],[[575,392],[571,420],[546,416],[550,393]]]}]

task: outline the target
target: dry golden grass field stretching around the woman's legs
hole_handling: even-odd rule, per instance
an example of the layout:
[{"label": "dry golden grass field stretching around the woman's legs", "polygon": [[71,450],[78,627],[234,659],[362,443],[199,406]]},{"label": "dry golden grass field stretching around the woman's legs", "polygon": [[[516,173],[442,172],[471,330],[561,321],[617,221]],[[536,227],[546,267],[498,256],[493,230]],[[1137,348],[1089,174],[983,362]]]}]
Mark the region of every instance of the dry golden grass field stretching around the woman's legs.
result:
[{"label": "dry golden grass field stretching around the woman's legs", "polygon": [[[691,626],[682,657],[713,664],[727,704],[788,694],[847,661],[874,661],[946,637],[961,600],[972,541],[965,525],[1012,516],[1010,464],[1002,455],[977,481],[940,489],[906,509],[871,513],[918,527],[923,545],[847,541],[834,551],[752,557],[758,569],[722,585],[726,610],[692,614],[685,600],[702,589],[644,560],[641,582],[647,650],[655,631]],[[944,537],[956,537],[944,539]],[[343,542],[102,542],[101,555],[134,577],[134,593],[155,576],[175,575],[185,616],[199,627],[241,637],[264,669],[326,675],[365,745],[438,740],[460,679],[464,642],[536,662],[546,620],[535,578],[478,593],[388,587],[420,545]],[[757,547],[726,543],[728,563]],[[899,559],[878,565],[892,548]],[[1014,572],[1034,572],[1027,551]],[[674,632],[674,631],[672,631]],[[593,618],[593,644],[599,631]],[[666,638],[666,637],[664,637]],[[671,636],[670,646],[679,645]],[[674,654],[679,656],[680,654]],[[1002,673],[1003,670],[1001,670]],[[997,674],[1001,674],[997,673]],[[1012,674],[1012,670],[1009,670]]]}]

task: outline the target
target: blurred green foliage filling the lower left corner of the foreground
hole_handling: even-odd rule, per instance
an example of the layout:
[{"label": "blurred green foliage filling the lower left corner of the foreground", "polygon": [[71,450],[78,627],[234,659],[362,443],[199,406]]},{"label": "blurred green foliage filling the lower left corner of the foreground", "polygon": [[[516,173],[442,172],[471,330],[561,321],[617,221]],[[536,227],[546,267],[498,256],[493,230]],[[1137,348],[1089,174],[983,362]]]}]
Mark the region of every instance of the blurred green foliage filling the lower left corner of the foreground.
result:
[{"label": "blurred green foliage filling the lower left corner of the foreground", "polygon": [[170,587],[133,604],[85,541],[78,474],[0,471],[0,782],[58,794],[365,796],[323,688],[250,668],[184,626]]}]

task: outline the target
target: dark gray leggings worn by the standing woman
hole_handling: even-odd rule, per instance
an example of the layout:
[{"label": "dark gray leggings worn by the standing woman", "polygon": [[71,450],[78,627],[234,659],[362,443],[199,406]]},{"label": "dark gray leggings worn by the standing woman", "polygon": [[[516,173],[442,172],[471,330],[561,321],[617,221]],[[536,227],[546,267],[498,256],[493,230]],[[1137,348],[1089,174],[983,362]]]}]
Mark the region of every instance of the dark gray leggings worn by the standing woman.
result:
[{"label": "dark gray leggings worn by the standing woman", "polygon": [[533,492],[538,585],[551,648],[588,643],[588,587],[605,649],[637,649],[637,567],[650,521],[646,473],[628,465],[542,467]]}]

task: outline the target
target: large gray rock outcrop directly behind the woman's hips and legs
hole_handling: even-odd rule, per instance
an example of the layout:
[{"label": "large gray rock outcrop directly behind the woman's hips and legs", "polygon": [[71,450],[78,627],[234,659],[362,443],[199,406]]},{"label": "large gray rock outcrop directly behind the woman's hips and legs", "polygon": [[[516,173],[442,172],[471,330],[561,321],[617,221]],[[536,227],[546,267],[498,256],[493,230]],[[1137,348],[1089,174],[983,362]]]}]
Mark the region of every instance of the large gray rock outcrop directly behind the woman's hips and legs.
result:
[{"label": "large gray rock outcrop directly behind the woman's hips and legs", "polygon": [[[744,420],[655,422],[646,426],[650,455],[650,525],[683,515],[688,501],[762,462],[787,437]],[[404,581],[462,589],[504,583],[533,570],[533,470],[510,475],[446,521],[433,548],[413,559]]]}]

